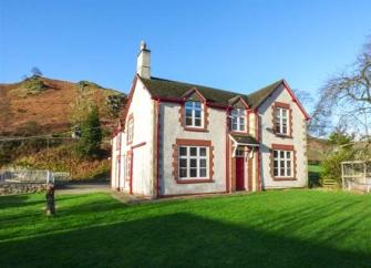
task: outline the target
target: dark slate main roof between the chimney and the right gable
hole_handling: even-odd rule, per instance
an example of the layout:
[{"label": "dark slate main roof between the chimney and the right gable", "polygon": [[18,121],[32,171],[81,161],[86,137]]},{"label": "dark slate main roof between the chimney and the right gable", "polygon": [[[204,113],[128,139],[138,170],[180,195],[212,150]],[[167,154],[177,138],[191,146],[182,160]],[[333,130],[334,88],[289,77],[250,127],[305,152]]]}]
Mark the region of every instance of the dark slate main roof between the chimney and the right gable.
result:
[{"label": "dark slate main roof between the chimney and the right gable", "polygon": [[267,85],[264,89],[246,95],[231,91],[225,91],[209,86],[188,84],[158,78],[141,78],[141,80],[146,89],[150,91],[150,93],[156,97],[169,97],[181,100],[186,92],[192,89],[197,89],[197,91],[209,103],[228,106],[230,104],[230,100],[235,99],[236,96],[240,96],[250,107],[259,106],[261,102],[264,102],[277,89],[277,86],[284,82],[284,80],[279,80],[270,85]]}]

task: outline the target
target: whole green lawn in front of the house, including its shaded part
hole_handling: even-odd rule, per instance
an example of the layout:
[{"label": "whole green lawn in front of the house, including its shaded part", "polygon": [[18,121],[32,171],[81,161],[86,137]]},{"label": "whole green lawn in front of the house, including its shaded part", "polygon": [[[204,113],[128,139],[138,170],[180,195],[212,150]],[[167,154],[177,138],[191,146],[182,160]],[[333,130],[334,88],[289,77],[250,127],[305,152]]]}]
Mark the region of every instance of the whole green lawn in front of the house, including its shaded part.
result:
[{"label": "whole green lawn in front of the house, including its shaded part", "polygon": [[126,206],[0,197],[0,267],[370,267],[371,195],[277,190]]}]

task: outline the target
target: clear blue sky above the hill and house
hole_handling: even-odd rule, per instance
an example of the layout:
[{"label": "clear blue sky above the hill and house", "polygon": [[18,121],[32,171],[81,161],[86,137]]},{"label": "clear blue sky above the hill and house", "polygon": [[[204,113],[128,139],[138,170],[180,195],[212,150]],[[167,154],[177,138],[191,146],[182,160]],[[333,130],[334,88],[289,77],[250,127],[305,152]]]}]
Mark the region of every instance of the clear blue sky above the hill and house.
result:
[{"label": "clear blue sky above the hill and house", "polygon": [[0,0],[0,83],[38,66],[127,93],[145,40],[153,76],[240,93],[284,78],[316,96],[355,60],[370,10],[370,0]]}]

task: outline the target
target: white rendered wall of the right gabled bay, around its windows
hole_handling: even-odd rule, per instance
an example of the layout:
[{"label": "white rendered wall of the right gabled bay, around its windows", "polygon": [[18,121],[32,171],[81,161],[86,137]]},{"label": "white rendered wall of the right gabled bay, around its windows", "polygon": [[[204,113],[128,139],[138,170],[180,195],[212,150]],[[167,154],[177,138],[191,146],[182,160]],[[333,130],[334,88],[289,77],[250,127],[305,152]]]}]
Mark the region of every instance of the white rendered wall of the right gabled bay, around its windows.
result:
[{"label": "white rendered wall of the right gabled bay, around its windows", "polygon": [[[290,104],[292,110],[292,137],[279,137],[272,133],[272,112],[274,102]],[[284,188],[284,187],[305,187],[308,181],[307,171],[307,122],[298,105],[292,102],[292,97],[287,90],[276,90],[258,109],[260,117],[260,137],[261,137],[261,182],[264,188]],[[270,173],[270,148],[271,144],[293,145],[296,151],[296,181],[274,181]]]}]

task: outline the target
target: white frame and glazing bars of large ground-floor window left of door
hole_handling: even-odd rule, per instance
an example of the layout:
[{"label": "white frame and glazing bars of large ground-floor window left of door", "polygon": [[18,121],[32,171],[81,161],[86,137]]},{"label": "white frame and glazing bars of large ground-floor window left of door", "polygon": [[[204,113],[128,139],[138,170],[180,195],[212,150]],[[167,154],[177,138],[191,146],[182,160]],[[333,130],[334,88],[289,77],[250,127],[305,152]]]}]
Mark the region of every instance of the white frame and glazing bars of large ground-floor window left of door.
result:
[{"label": "white frame and glazing bars of large ground-floor window left of door", "polygon": [[[186,148],[186,155],[181,155],[181,148]],[[196,155],[190,155],[190,148],[196,148]],[[202,148],[206,150],[204,156],[200,155]],[[209,178],[209,147],[208,146],[189,146],[179,145],[178,146],[178,179],[208,179]],[[181,166],[181,159],[186,159],[186,167]],[[190,167],[190,161],[196,159],[196,167]],[[205,166],[200,166],[200,162],[204,159],[206,162]],[[190,169],[196,168],[196,176],[190,176]],[[181,176],[181,169],[186,169],[186,176]],[[205,176],[200,175],[200,169],[206,169]]]}]

